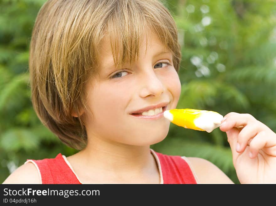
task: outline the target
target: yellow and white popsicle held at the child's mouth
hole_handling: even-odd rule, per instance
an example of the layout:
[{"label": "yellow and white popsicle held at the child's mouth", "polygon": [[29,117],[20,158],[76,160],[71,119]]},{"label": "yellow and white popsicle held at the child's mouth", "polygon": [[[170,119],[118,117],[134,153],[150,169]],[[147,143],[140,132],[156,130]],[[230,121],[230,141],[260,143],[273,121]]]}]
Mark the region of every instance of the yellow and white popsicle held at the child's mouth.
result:
[{"label": "yellow and white popsicle held at the child's mouth", "polygon": [[223,119],[217,112],[199,109],[171,109],[166,110],[163,115],[178,126],[209,133],[218,128]]}]

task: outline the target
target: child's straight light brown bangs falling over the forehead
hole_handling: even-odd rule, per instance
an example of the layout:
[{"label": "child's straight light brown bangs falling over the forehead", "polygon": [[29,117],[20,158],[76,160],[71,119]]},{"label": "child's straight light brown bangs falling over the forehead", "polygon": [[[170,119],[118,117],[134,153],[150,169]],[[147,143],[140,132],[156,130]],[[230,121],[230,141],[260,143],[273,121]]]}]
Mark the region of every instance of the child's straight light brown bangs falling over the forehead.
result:
[{"label": "child's straight light brown bangs falling over the forehead", "polygon": [[[139,57],[143,34],[146,34],[146,43],[150,34],[155,34],[163,43],[164,48],[169,49],[174,58],[178,48],[177,29],[173,27],[173,19],[168,20],[168,13],[162,9],[160,3],[153,1],[160,7],[147,7],[140,1],[121,1],[115,5],[112,18],[106,22],[106,33],[109,35],[113,60],[117,69],[125,65],[132,67]],[[156,18],[159,16],[160,18]],[[147,51],[147,48],[146,48]],[[174,65],[178,61],[173,62]],[[177,67],[175,67],[176,70]]]}]

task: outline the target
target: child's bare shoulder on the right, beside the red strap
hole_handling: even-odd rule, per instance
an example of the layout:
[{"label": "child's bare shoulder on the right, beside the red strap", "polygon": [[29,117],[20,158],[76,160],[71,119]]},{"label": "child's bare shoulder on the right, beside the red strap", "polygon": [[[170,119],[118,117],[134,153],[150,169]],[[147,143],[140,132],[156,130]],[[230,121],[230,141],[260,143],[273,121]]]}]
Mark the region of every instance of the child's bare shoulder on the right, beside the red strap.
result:
[{"label": "child's bare shoulder on the right, beside the red strap", "polygon": [[233,184],[231,179],[212,162],[199,157],[182,157],[192,167],[201,184]]}]

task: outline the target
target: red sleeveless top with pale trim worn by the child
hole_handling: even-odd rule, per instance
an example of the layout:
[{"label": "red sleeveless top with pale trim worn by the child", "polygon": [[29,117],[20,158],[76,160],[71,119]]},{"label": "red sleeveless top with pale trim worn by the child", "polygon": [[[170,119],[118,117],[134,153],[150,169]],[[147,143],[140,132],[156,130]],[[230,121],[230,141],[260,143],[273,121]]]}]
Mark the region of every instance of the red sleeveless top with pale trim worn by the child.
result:
[{"label": "red sleeveless top with pale trim worn by the child", "polygon": [[[156,154],[155,158],[160,163],[161,172],[159,172],[164,184],[197,184],[191,168],[181,156],[170,156],[151,151]],[[25,163],[29,161],[33,162],[38,169],[42,184],[81,184],[61,153],[55,158],[28,159]]]}]

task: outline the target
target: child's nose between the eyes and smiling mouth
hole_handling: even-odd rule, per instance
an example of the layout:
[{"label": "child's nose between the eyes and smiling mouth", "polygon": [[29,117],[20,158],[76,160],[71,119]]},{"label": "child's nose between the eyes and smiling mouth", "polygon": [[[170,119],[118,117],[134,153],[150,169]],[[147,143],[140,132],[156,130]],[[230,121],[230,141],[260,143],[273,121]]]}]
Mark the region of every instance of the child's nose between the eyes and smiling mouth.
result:
[{"label": "child's nose between the eyes and smiling mouth", "polygon": [[141,97],[146,97],[148,95],[154,95],[158,97],[164,91],[163,82],[153,70],[143,72],[140,83]]}]

